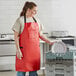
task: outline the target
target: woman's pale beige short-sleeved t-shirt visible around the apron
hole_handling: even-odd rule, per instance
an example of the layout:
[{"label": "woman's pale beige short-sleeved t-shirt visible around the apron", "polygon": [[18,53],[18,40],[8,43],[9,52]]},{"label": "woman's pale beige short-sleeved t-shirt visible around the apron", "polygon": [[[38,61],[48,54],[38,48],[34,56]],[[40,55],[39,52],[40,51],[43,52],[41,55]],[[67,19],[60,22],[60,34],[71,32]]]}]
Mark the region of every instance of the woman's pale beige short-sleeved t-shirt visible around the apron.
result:
[{"label": "woman's pale beige short-sleeved t-shirt visible around the apron", "polygon": [[[41,32],[43,30],[43,25],[40,23],[38,18],[35,18],[35,19],[39,25],[39,32]],[[32,17],[26,18],[26,23],[29,23],[29,22],[35,22],[35,21],[33,20]],[[22,33],[23,29],[24,29],[24,16],[21,16],[21,17],[17,18],[16,22],[14,23],[14,25],[12,27],[12,30],[16,31],[20,34],[20,33]]]}]

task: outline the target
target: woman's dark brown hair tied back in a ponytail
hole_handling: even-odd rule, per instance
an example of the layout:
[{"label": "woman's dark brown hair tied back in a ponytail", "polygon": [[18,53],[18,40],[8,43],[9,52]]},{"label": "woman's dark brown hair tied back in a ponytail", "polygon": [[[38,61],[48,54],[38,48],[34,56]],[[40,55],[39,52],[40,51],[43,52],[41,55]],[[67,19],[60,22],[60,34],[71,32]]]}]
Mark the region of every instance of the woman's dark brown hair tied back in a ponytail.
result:
[{"label": "woman's dark brown hair tied back in a ponytail", "polygon": [[24,7],[23,7],[23,9],[22,9],[22,12],[20,13],[20,16],[24,16],[25,14],[26,14],[26,12],[27,12],[27,9],[29,8],[29,9],[32,9],[33,7],[36,7],[37,5],[34,3],[34,2],[26,2],[25,4],[24,4]]}]

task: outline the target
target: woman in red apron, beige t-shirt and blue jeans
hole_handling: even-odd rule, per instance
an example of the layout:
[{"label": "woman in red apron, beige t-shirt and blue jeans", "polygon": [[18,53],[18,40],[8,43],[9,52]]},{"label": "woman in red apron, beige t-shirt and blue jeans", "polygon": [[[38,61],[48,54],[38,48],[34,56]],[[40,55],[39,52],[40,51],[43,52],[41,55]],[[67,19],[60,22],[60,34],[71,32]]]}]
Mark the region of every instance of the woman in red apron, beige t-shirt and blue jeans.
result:
[{"label": "woman in red apron, beige t-shirt and blue jeans", "polygon": [[12,30],[16,43],[16,71],[17,76],[38,76],[40,69],[39,38],[52,44],[42,34],[42,26],[34,15],[37,13],[37,5],[34,2],[26,2],[20,17],[16,20]]}]

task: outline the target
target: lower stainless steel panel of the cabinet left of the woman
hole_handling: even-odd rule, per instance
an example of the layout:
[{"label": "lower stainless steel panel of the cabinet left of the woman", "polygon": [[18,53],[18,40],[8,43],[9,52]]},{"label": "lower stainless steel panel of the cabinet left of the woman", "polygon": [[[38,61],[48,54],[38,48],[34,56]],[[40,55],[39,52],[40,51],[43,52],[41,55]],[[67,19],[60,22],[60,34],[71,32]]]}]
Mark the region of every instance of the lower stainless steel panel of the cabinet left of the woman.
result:
[{"label": "lower stainless steel panel of the cabinet left of the woman", "polygon": [[0,71],[14,70],[15,69],[15,56],[0,57]]}]

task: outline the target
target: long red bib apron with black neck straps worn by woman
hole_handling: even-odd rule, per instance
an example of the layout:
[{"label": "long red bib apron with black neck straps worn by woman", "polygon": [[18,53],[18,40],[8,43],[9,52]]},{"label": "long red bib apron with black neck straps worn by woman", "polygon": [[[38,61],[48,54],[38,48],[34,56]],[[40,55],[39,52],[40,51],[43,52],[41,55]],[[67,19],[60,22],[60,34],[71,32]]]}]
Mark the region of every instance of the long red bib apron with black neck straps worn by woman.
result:
[{"label": "long red bib apron with black neck straps worn by woman", "polygon": [[40,69],[39,26],[37,22],[24,23],[19,37],[22,59],[16,55],[16,71],[29,72]]}]

